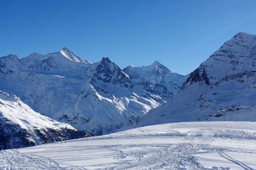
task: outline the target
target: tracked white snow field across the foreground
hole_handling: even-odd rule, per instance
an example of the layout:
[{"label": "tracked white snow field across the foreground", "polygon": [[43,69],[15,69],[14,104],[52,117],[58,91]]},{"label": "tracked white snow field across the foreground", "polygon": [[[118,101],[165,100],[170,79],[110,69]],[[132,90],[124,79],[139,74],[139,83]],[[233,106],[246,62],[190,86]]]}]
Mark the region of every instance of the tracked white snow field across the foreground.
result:
[{"label": "tracked white snow field across the foreground", "polygon": [[0,152],[0,169],[256,169],[256,122],[187,122]]}]

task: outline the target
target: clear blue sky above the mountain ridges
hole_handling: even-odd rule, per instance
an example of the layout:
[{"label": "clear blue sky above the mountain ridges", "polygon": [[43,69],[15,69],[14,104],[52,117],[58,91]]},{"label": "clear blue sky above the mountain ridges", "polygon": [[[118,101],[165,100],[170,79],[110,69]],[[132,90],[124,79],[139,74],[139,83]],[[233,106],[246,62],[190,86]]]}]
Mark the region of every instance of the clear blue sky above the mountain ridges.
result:
[{"label": "clear blue sky above the mountain ridges", "polygon": [[88,61],[157,60],[187,74],[240,31],[256,34],[254,0],[0,0],[0,56],[67,47]]}]

